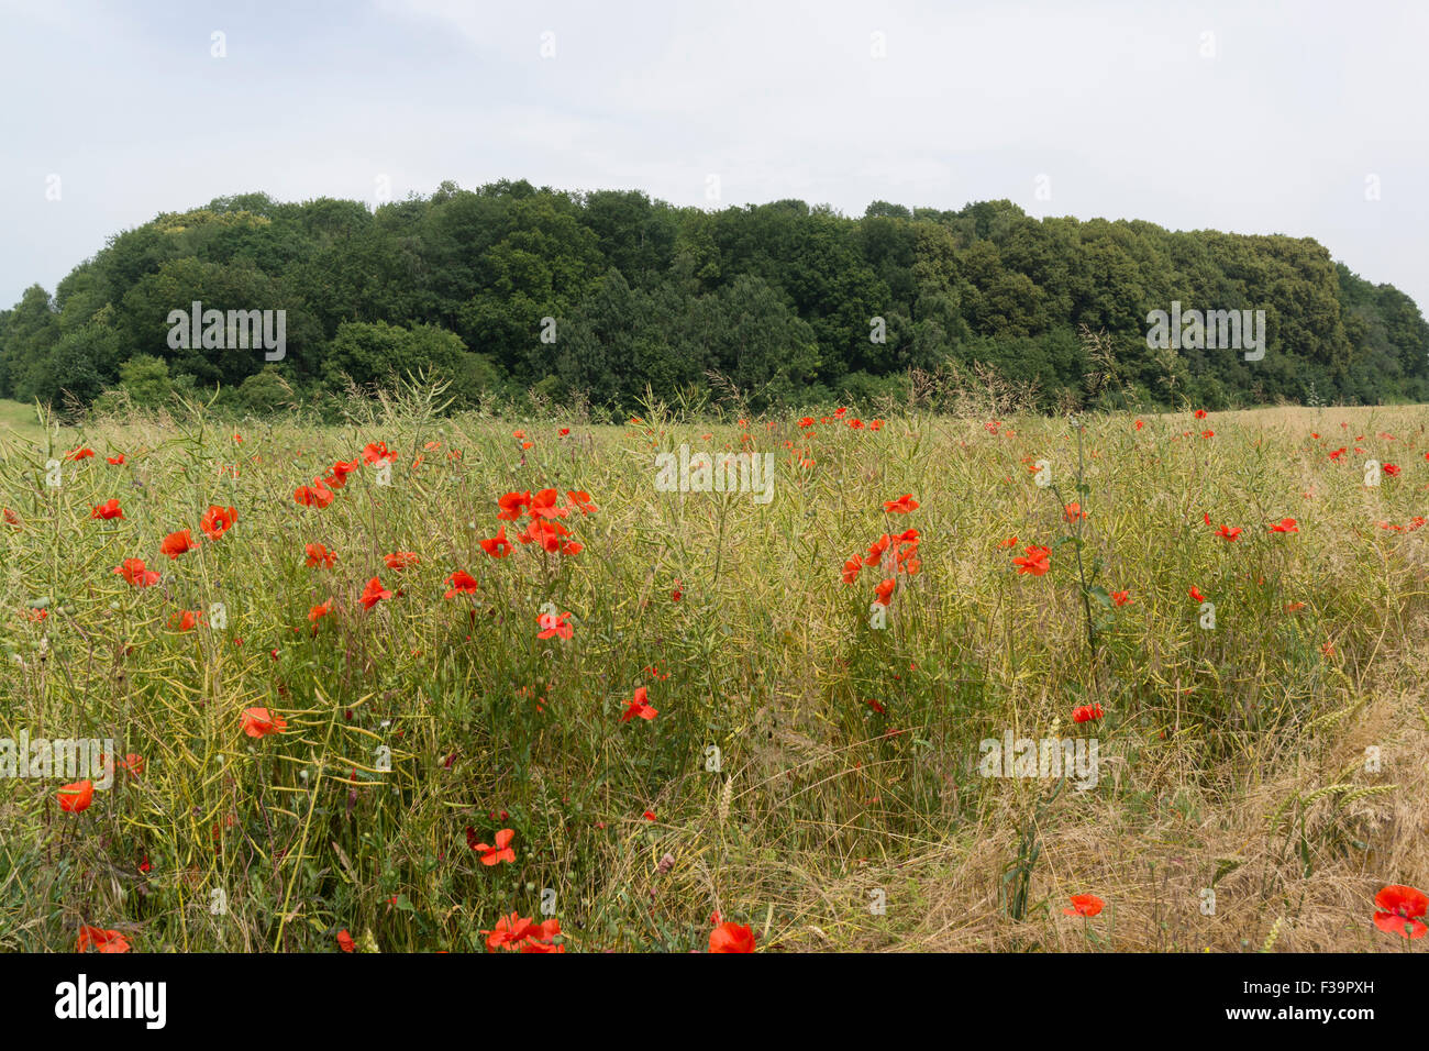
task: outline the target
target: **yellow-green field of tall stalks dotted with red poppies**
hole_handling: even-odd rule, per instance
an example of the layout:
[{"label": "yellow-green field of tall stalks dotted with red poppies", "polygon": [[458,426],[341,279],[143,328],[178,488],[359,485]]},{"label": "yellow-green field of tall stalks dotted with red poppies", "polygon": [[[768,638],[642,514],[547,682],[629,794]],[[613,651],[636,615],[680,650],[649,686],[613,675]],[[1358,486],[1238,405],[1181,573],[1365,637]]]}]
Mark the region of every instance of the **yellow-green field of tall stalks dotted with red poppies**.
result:
[{"label": "yellow-green field of tall stalks dotted with red poppies", "polygon": [[0,432],[0,949],[1426,944],[1429,410],[430,408]]}]

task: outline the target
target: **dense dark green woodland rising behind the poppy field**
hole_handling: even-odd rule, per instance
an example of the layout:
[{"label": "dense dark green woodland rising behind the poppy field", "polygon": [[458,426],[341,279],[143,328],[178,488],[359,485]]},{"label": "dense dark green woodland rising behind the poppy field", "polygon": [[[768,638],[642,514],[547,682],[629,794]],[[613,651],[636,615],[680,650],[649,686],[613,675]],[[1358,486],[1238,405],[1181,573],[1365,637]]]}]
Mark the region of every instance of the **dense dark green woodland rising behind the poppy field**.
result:
[{"label": "dense dark green woodland rising behind the poppy field", "polygon": [[[284,359],[170,347],[170,312],[194,300],[286,310]],[[1263,309],[1265,359],[1149,349],[1147,313],[1173,300]],[[1106,332],[1110,367],[1086,330]],[[353,383],[413,373],[463,406],[534,395],[600,419],[647,385],[670,403],[866,405],[949,360],[1035,382],[1045,409],[1429,402],[1418,306],[1315,240],[1039,220],[1006,200],[850,219],[526,182],[376,210],[254,193],[119,233],[54,296],[36,285],[0,313],[0,395],[56,405],[217,390],[236,410],[336,415]]]}]

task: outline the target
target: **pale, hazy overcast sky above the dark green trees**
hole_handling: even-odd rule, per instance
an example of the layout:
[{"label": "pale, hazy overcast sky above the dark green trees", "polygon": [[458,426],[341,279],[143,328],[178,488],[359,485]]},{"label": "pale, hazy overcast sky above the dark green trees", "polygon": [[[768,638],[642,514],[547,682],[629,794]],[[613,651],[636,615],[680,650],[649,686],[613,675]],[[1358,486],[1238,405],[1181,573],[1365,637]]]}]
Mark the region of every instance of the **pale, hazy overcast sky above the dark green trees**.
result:
[{"label": "pale, hazy overcast sky above the dark green trees", "polygon": [[526,179],[1313,237],[1425,309],[1426,39],[1418,0],[0,0],[0,305],[219,196]]}]

